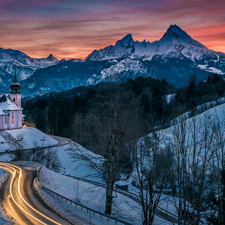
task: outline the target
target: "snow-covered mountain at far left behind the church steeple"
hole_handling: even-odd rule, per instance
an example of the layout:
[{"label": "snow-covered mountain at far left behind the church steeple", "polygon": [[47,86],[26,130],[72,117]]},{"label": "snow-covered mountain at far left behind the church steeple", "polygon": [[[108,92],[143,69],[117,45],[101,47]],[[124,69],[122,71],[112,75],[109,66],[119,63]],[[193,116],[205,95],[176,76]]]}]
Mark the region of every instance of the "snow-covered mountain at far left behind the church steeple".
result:
[{"label": "snow-covered mountain at far left behind the church steeple", "polygon": [[[47,58],[31,58],[23,52],[0,48],[0,79],[4,80],[0,87],[7,86],[16,72],[19,80],[25,80],[36,70],[58,63],[53,55]],[[10,76],[11,75],[11,76]]]}]

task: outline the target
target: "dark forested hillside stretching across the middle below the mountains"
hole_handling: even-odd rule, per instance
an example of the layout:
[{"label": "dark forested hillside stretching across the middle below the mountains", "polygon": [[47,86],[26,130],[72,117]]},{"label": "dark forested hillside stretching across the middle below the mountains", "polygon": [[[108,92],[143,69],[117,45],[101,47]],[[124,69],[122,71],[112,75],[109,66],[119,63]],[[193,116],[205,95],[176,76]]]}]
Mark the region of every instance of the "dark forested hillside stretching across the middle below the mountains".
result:
[{"label": "dark forested hillside stretching across the middle below the mountains", "polygon": [[166,126],[186,111],[194,115],[196,106],[216,100],[224,93],[225,83],[217,74],[199,83],[193,76],[188,87],[182,89],[174,88],[165,79],[138,77],[121,84],[108,82],[79,89],[78,93],[70,90],[34,98],[23,102],[23,108],[28,126],[97,150],[95,144],[102,140],[98,133],[103,133],[106,123],[103,117],[110,120],[115,110],[121,116],[123,129],[131,132],[134,124],[138,124],[141,136],[154,126]]}]

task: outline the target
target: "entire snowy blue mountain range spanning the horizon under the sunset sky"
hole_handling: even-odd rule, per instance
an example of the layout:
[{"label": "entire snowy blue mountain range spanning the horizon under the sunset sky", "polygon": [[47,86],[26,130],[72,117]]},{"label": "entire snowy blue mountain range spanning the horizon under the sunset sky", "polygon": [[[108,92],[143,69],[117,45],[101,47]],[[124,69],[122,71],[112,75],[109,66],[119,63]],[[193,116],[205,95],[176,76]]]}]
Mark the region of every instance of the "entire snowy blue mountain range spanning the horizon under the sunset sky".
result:
[{"label": "entire snowy blue mountain range spanning the horizon under the sunset sky", "polygon": [[23,80],[22,92],[29,95],[137,76],[165,78],[180,87],[193,74],[199,80],[209,73],[225,74],[225,54],[208,49],[177,25],[171,25],[159,41],[134,41],[128,34],[115,45],[94,50],[85,60],[58,61],[52,55],[32,59],[19,51],[0,49],[4,87],[14,74],[13,65],[17,65],[19,79]]}]

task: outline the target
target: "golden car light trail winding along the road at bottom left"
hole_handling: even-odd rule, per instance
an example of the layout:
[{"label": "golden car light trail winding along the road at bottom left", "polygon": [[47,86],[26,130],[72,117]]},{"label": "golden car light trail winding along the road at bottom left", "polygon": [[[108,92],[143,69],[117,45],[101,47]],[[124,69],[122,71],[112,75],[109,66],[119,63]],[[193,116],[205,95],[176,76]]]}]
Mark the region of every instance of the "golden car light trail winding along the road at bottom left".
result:
[{"label": "golden car light trail winding along the road at bottom left", "polygon": [[[20,183],[21,183],[21,178],[22,178],[22,169],[16,165],[12,165],[12,164],[8,164],[8,163],[0,163],[0,166],[2,166],[3,168],[8,168],[8,170],[12,170],[13,171],[13,176],[12,179],[10,181],[10,197],[13,200],[13,202],[16,204],[16,206],[26,215],[28,215],[29,217],[33,218],[35,221],[38,222],[38,224],[43,224],[43,225],[48,225],[48,223],[43,222],[40,218],[35,217],[34,215],[32,215],[30,212],[28,212],[28,210],[25,209],[25,207],[22,207],[22,204],[19,201],[16,201],[16,197],[20,198],[26,205],[27,207],[32,211],[36,212],[37,214],[39,214],[41,217],[47,219],[48,221],[50,221],[53,224],[56,225],[60,225],[61,223],[56,222],[55,220],[47,217],[46,215],[44,215],[43,213],[41,213],[40,211],[38,211],[37,209],[35,209],[34,207],[32,207],[22,196],[21,194],[21,190],[20,190]],[[18,178],[18,188],[17,190],[15,190],[15,185],[13,186],[14,181],[16,182],[16,174],[17,174],[17,170],[19,173],[19,178]],[[18,191],[18,195],[17,192]],[[15,192],[15,193],[14,193]],[[20,200],[18,199],[18,200]]]}]

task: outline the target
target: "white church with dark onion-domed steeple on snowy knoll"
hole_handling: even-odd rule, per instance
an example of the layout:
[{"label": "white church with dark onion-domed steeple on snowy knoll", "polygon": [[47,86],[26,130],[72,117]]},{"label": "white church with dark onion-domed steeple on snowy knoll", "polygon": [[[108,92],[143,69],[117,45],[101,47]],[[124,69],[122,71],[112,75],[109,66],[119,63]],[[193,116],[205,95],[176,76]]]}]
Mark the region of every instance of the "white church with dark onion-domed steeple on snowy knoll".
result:
[{"label": "white church with dark onion-domed steeple on snowy knoll", "polygon": [[0,98],[0,130],[11,130],[22,128],[23,115],[21,108],[20,84],[16,71],[9,96],[4,94]]}]

